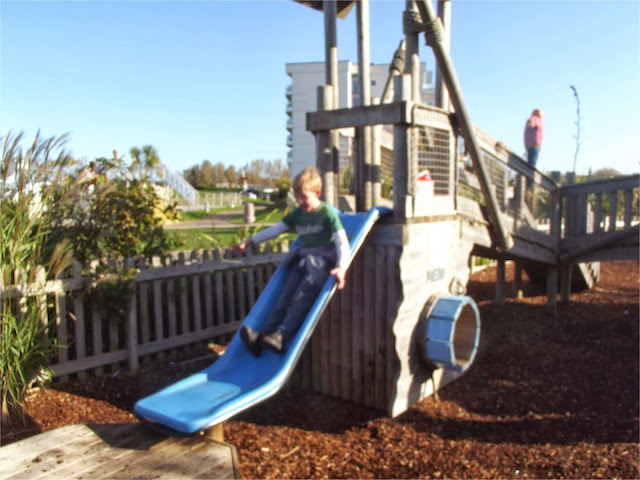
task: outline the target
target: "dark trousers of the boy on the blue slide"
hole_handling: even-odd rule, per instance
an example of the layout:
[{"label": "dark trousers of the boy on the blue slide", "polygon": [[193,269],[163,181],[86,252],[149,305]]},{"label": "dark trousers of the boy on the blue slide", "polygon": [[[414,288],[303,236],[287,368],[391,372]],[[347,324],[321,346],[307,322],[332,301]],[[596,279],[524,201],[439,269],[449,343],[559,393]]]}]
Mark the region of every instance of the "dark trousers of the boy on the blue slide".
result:
[{"label": "dark trousers of the boy on the blue slide", "polygon": [[[315,275],[312,276],[309,272],[307,266],[311,262],[308,258],[302,262],[292,263],[289,277],[282,288],[275,308],[262,328],[262,331],[267,335],[280,330],[285,340],[291,339],[296,334],[316,301],[324,282],[329,278],[328,264],[322,267],[325,274],[319,278],[317,267],[313,267]],[[323,277],[324,280],[322,280]]]}]

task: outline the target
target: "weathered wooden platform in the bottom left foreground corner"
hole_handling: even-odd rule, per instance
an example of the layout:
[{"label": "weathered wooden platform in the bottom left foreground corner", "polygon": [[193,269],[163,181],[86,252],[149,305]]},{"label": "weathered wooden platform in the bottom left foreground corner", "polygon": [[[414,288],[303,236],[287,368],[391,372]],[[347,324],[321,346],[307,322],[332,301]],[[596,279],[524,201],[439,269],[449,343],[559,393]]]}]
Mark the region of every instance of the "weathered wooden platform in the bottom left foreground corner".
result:
[{"label": "weathered wooden platform in the bottom left foreground corner", "polygon": [[0,448],[3,479],[237,478],[235,447],[138,423],[68,425]]}]

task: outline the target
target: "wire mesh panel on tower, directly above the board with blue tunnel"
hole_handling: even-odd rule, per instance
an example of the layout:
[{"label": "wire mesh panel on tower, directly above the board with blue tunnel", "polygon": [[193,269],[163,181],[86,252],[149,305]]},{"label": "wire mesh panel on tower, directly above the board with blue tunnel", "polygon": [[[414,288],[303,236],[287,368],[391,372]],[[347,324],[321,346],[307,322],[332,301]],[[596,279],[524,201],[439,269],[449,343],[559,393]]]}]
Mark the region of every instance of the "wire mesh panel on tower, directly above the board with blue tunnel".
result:
[{"label": "wire mesh panel on tower, directly above the board with blue tunnel", "polygon": [[418,171],[429,170],[435,195],[449,195],[451,131],[435,127],[416,127]]}]

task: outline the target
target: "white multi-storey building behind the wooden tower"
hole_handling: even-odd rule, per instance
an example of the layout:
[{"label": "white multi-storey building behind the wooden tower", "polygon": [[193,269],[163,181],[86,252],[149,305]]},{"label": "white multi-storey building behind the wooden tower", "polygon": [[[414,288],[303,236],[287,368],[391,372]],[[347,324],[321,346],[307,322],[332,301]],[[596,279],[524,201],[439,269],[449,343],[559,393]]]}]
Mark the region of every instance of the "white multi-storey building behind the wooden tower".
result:
[{"label": "white multi-storey building behind the wooden tower", "polygon": [[[317,88],[326,81],[324,62],[287,63],[286,68],[287,75],[291,77],[291,85],[287,87],[287,163],[289,175],[293,177],[307,165],[315,165],[315,138],[306,129],[306,114],[317,110]],[[371,96],[382,97],[389,76],[389,65],[372,64],[370,76]],[[432,73],[426,70],[424,63],[421,64],[421,79],[423,103],[433,105],[435,86]],[[358,90],[358,65],[349,61],[339,62],[339,108],[360,105]],[[348,132],[341,135],[341,158],[349,154],[350,138]]]}]

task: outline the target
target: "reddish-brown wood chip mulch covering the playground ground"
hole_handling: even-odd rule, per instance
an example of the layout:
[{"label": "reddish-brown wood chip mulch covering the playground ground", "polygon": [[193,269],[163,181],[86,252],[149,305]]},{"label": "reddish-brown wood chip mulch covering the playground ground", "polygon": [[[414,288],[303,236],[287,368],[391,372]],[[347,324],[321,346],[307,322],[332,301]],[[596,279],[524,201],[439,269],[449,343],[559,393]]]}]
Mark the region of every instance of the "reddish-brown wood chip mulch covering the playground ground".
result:
[{"label": "reddish-brown wood chip mulch covering the playground ground", "polygon": [[[225,423],[244,478],[640,478],[639,265],[602,264],[600,282],[547,313],[528,285],[493,302],[495,268],[472,276],[476,361],[439,398],[397,418],[287,388]],[[507,280],[513,279],[512,268]],[[507,293],[512,284],[509,283]],[[35,392],[2,444],[71,423],[135,422],[139,398],[208,365],[159,359]],[[152,368],[149,368],[152,367]]]}]

